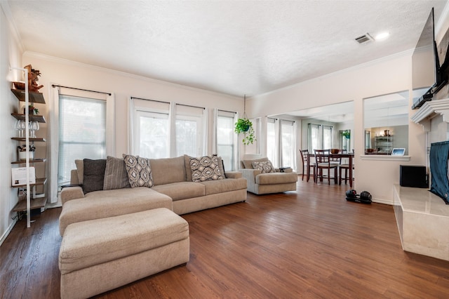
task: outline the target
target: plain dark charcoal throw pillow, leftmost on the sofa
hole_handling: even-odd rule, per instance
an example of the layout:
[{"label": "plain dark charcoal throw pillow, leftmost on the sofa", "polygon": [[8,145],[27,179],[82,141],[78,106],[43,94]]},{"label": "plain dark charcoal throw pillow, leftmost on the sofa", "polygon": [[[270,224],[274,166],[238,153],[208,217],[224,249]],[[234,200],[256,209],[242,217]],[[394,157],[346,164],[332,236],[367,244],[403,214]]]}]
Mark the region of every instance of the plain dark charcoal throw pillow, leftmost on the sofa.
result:
[{"label": "plain dark charcoal throw pillow, leftmost on the sofa", "polygon": [[83,159],[83,192],[103,190],[106,159]]}]

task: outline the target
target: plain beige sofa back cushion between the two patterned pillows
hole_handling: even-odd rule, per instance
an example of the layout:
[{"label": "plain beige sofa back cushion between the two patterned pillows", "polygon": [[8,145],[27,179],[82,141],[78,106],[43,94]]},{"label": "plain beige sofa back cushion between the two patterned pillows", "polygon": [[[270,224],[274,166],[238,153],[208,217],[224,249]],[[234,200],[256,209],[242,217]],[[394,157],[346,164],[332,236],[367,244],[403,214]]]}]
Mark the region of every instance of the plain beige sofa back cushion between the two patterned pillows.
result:
[{"label": "plain beige sofa back cushion between the two patterned pillows", "polygon": [[185,182],[184,157],[149,159],[152,166],[154,185],[170,184],[171,182]]}]

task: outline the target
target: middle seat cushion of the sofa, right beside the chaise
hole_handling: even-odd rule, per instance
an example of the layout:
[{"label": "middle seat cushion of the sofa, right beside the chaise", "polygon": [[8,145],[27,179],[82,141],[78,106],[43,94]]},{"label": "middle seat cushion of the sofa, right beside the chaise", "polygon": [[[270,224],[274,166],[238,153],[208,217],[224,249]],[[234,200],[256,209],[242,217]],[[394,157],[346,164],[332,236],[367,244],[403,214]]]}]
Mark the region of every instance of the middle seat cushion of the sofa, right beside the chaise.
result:
[{"label": "middle seat cushion of the sofa, right beside the chaise", "polygon": [[173,201],[203,197],[206,195],[205,189],[204,185],[198,182],[173,182],[171,184],[156,185],[153,187],[154,191],[171,197]]}]

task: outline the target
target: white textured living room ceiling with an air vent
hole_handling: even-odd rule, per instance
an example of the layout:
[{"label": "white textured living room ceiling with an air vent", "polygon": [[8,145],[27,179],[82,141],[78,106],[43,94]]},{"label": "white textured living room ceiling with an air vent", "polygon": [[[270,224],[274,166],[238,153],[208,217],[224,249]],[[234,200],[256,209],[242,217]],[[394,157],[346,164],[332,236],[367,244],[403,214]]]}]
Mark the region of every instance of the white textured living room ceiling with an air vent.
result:
[{"label": "white textured living room ceiling with an air vent", "polygon": [[446,3],[7,1],[25,51],[238,96],[412,49]]}]

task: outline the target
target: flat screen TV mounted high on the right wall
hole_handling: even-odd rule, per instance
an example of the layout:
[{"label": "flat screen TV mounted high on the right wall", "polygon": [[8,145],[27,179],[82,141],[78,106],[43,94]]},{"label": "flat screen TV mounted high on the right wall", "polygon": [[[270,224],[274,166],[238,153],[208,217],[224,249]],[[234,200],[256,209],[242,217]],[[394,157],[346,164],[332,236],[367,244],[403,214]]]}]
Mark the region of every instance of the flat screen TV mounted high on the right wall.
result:
[{"label": "flat screen TV mounted high on the right wall", "polygon": [[[441,43],[441,46],[443,46],[443,43]],[[447,45],[443,46],[443,48],[445,48],[445,53],[440,53],[440,55],[445,56],[447,54]],[[445,57],[443,59],[445,60]],[[446,68],[445,65],[440,67],[438,48],[435,41],[434,8],[432,8],[412,55],[412,109],[417,109],[424,102],[432,100],[434,93],[447,83]]]}]

